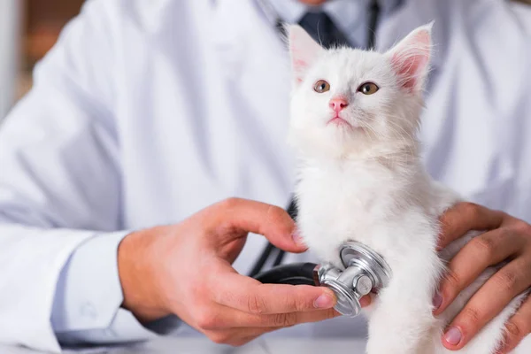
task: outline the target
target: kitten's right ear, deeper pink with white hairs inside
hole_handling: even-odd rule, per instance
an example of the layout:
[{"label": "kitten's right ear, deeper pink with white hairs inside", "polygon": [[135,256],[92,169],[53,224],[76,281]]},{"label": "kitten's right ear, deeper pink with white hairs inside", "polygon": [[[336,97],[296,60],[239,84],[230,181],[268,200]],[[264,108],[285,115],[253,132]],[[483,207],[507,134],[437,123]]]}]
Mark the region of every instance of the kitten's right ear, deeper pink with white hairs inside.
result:
[{"label": "kitten's right ear, deeper pink with white hairs inside", "polygon": [[424,89],[429,71],[433,24],[432,21],[412,30],[387,52],[404,89],[412,92]]}]

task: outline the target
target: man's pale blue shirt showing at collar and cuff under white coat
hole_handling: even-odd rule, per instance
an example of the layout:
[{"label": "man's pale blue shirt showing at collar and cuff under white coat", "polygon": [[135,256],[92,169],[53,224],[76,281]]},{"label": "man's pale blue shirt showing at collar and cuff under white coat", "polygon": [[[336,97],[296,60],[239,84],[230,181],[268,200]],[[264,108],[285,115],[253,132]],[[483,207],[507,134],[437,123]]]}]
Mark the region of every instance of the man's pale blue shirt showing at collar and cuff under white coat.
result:
[{"label": "man's pale blue shirt showing at collar and cuff under white coat", "polygon": [[[402,0],[381,0],[380,20],[385,20],[402,3]],[[306,12],[324,11],[353,47],[366,47],[369,0],[330,0],[320,6],[305,5],[297,0],[269,0],[269,4],[288,23],[297,23]],[[123,301],[117,266],[118,246],[127,234],[124,231],[89,238],[66,262],[58,279],[51,314],[52,327],[62,342],[103,338],[112,332],[109,328]],[[178,320],[168,318],[144,326],[163,334],[178,325]]]}]

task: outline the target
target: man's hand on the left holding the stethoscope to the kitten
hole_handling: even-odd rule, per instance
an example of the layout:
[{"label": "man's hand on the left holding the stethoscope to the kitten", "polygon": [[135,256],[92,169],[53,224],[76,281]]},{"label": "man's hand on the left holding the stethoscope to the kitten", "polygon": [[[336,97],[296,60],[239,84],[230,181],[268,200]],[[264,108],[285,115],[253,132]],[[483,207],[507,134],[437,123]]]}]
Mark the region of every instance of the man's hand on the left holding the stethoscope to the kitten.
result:
[{"label": "man's hand on the left holding the stethoscope to the kitten", "polygon": [[262,284],[231,266],[249,232],[303,252],[294,228],[279,207],[233,198],[180,224],[127,235],[118,255],[123,306],[141,321],[173,313],[213,342],[231,345],[338,316],[329,289]]}]

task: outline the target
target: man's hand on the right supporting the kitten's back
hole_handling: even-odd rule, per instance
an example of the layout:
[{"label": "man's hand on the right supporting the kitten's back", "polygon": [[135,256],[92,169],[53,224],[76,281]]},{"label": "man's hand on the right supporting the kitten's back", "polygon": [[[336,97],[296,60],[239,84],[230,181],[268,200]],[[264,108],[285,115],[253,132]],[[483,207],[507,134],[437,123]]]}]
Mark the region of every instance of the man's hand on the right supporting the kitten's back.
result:
[{"label": "man's hand on the right supporting the kitten's back", "polygon": [[[531,226],[504,212],[470,203],[450,209],[443,215],[442,222],[441,249],[470,230],[488,231],[468,242],[451,259],[450,270],[434,299],[435,306],[440,304],[435,315],[443,312],[488,266],[509,261],[473,295],[443,335],[447,349],[459,350],[515,296],[531,286]],[[509,319],[506,329],[504,348],[499,349],[503,354],[513,350],[531,333],[531,297]]]}]

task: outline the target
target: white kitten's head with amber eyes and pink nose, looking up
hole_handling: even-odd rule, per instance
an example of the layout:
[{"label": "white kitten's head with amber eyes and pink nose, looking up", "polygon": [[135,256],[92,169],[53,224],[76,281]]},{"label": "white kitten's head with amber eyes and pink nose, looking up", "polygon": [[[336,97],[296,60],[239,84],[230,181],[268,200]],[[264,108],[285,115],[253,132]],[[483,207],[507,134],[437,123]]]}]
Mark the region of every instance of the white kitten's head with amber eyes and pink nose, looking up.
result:
[{"label": "white kitten's head with amber eyes and pink nose, looking up", "polygon": [[423,106],[432,24],[384,53],[325,50],[290,26],[290,141],[304,154],[344,157],[414,144]]}]

